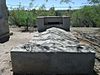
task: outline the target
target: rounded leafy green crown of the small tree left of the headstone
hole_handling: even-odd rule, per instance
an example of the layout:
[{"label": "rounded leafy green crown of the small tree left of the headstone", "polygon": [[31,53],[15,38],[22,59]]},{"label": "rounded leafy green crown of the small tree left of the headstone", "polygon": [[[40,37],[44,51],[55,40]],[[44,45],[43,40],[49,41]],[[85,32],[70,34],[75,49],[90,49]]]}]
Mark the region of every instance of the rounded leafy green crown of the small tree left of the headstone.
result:
[{"label": "rounded leafy green crown of the small tree left of the headstone", "polygon": [[12,10],[10,11],[10,21],[17,26],[26,26],[35,22],[35,15],[31,11]]}]

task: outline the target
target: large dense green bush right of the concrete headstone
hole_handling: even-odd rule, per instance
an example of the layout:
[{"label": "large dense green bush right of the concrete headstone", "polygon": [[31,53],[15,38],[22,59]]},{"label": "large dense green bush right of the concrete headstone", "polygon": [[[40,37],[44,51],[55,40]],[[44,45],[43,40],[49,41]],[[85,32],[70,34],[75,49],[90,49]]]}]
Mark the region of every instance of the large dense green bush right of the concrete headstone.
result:
[{"label": "large dense green bush right of the concrete headstone", "polygon": [[72,14],[72,26],[100,26],[100,5],[84,6]]}]

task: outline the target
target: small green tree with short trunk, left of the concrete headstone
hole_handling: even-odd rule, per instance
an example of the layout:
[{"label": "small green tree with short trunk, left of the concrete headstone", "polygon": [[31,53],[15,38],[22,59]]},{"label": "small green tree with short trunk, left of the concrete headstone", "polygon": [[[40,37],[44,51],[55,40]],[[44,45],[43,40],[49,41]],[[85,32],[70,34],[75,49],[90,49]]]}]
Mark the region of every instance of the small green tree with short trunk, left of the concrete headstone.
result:
[{"label": "small green tree with short trunk, left of the concrete headstone", "polygon": [[[33,0],[32,0],[33,1]],[[29,9],[25,10],[19,3],[19,7],[10,11],[10,22],[18,27],[24,26],[25,30],[29,30],[29,26],[35,24],[36,16],[35,12],[31,11],[32,2],[29,3]]]}]

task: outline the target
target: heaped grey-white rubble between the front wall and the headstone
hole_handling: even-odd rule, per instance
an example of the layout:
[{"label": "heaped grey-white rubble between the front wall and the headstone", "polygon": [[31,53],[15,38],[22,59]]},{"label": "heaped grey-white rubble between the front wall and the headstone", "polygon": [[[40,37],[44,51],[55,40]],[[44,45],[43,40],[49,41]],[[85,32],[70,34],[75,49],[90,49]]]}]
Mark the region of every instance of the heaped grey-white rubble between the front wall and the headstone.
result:
[{"label": "heaped grey-white rubble between the front wall and the headstone", "polygon": [[30,42],[15,49],[28,52],[91,52],[91,48],[81,46],[72,32],[53,27],[42,33],[34,33]]}]

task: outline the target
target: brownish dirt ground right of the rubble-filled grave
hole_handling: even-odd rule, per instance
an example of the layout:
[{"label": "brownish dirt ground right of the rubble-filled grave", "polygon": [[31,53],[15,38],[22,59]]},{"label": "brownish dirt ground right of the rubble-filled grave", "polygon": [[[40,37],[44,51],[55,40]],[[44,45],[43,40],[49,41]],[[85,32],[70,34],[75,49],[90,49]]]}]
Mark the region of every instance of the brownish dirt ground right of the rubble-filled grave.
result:
[{"label": "brownish dirt ground right of the rubble-filled grave", "polygon": [[[100,28],[71,28],[71,31],[75,31],[75,32],[82,32],[82,33],[86,33],[86,34],[92,34],[94,36],[98,36],[100,39]],[[82,44],[89,44],[91,46],[93,46],[95,48],[95,66],[94,66],[94,71],[95,73],[93,75],[100,75],[100,40],[99,41],[99,47],[96,45],[92,45],[91,43],[89,43],[88,41],[85,40],[80,40],[80,43]]]}]

